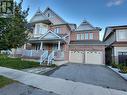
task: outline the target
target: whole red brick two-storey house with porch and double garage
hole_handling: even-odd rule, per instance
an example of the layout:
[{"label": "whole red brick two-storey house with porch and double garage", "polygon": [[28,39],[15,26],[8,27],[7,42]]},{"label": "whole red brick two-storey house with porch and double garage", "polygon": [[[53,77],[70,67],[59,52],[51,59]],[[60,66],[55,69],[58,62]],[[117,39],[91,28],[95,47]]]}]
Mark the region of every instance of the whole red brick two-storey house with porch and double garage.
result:
[{"label": "whole red brick two-storey house with porch and double garage", "polygon": [[55,61],[58,64],[105,63],[105,44],[99,40],[101,29],[92,26],[88,21],[84,20],[77,27],[48,7],[43,12],[38,9],[30,24],[33,32],[28,43],[24,45],[25,57],[30,55],[38,59],[41,56],[41,62],[48,60],[49,63]]}]

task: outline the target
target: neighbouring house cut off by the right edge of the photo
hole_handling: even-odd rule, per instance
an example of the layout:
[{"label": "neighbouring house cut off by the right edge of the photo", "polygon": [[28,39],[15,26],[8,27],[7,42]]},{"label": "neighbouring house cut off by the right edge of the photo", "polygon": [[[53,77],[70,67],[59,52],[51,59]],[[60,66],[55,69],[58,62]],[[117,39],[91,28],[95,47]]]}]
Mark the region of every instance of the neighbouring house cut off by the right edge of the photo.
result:
[{"label": "neighbouring house cut off by the right edge of the photo", "polygon": [[106,64],[127,64],[127,25],[109,26],[105,30]]}]

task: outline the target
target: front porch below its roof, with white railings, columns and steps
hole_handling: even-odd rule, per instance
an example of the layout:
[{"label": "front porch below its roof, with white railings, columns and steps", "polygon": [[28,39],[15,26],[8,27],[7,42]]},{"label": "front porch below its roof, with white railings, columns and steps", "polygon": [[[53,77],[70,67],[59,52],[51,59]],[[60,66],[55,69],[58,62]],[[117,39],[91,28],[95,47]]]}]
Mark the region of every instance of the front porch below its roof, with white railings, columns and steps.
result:
[{"label": "front porch below its roof, with white railings, columns and steps", "polygon": [[24,60],[42,63],[53,63],[53,61],[64,61],[64,41],[29,41],[23,48],[15,50],[12,55]]}]

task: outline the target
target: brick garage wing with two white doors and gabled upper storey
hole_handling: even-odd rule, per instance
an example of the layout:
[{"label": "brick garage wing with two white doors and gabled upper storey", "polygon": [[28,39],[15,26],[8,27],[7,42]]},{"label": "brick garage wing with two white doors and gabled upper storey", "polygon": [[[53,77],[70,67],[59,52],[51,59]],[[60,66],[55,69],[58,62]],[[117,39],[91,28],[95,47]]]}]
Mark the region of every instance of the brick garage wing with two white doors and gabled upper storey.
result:
[{"label": "brick garage wing with two white doors and gabled upper storey", "polygon": [[85,64],[105,63],[105,44],[99,40],[99,27],[84,20],[71,31],[69,61]]}]

